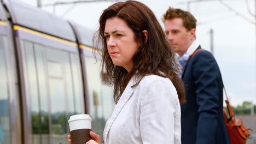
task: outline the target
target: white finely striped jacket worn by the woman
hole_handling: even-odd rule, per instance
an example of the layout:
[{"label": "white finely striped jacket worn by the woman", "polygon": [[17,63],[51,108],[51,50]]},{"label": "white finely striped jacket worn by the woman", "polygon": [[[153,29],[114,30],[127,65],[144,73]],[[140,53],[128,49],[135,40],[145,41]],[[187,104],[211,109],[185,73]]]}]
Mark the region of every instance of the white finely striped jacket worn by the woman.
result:
[{"label": "white finely striped jacket worn by the woman", "polygon": [[180,144],[181,107],[173,83],[148,75],[135,84],[132,77],[107,121],[105,144]]}]

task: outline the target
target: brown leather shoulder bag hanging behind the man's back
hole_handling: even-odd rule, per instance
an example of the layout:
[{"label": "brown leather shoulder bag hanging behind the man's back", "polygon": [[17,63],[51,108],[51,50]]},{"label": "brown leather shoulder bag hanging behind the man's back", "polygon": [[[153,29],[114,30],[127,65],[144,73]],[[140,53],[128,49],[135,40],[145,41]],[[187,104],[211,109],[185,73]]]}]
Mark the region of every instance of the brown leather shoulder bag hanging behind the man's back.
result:
[{"label": "brown leather shoulder bag hanging behind the man's back", "polygon": [[[226,94],[226,89],[224,87],[224,91]],[[223,115],[224,115],[224,121],[226,125],[226,129],[228,130],[229,133],[229,139],[231,144],[245,144],[246,140],[251,137],[251,133],[249,130],[252,129],[247,129],[245,125],[243,125],[242,119],[235,119],[234,112],[232,110],[232,107],[229,104],[228,97],[226,95],[226,107],[229,112],[229,116],[227,115],[225,109],[223,109]]]}]

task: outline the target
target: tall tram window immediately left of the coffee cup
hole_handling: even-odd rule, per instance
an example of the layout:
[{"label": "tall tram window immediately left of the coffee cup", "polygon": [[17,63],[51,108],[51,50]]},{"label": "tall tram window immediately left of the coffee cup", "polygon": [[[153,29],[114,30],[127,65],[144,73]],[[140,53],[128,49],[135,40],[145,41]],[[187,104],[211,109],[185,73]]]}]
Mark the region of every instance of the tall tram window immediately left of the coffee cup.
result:
[{"label": "tall tram window immediately left of the coffee cup", "polygon": [[[69,64],[68,52],[47,49],[47,63],[48,70],[55,67],[49,65],[49,63],[55,62],[61,64],[61,73],[55,73],[55,75],[48,75],[49,91],[50,91],[50,105],[51,105],[51,131],[53,143],[67,143],[67,115],[68,110],[67,103],[67,91],[72,91],[72,87],[67,87],[66,83],[66,71],[71,69]],[[56,70],[58,71],[58,70]],[[67,90],[69,89],[69,90]]]}]

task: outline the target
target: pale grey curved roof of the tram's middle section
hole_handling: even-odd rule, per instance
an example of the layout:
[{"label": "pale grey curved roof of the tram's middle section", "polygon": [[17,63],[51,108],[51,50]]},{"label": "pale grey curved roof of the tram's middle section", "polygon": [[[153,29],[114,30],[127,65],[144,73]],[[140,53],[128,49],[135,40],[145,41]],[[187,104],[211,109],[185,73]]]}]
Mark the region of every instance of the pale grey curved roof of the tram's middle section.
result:
[{"label": "pale grey curved roof of the tram's middle section", "polygon": [[14,24],[75,41],[71,26],[61,17],[18,0],[3,0],[3,2],[11,14]]}]

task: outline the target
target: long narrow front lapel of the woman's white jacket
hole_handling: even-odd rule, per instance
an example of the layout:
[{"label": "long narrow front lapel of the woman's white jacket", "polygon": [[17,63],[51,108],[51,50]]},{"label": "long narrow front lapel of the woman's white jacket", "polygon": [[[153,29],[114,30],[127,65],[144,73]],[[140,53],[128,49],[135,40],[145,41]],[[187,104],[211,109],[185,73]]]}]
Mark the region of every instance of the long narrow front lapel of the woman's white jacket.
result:
[{"label": "long narrow front lapel of the woman's white jacket", "polygon": [[120,111],[123,109],[123,107],[125,106],[125,104],[127,103],[127,101],[129,100],[129,98],[131,97],[131,95],[133,94],[133,86],[136,84],[135,82],[135,78],[134,76],[132,77],[132,79],[129,81],[129,83],[127,84],[123,94],[121,95],[117,106],[115,106],[115,109],[112,113],[112,116],[108,119],[108,124],[106,125],[106,131],[105,131],[105,135],[104,135],[104,140],[106,140],[109,129],[111,128],[112,124],[115,121],[115,118],[117,118],[117,116],[119,115]]}]

